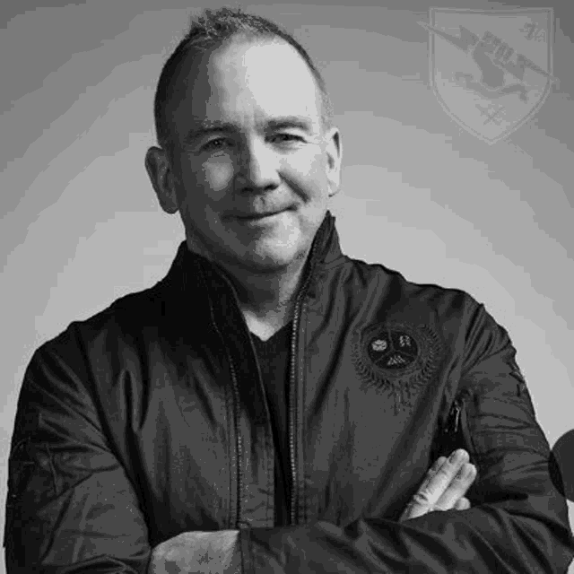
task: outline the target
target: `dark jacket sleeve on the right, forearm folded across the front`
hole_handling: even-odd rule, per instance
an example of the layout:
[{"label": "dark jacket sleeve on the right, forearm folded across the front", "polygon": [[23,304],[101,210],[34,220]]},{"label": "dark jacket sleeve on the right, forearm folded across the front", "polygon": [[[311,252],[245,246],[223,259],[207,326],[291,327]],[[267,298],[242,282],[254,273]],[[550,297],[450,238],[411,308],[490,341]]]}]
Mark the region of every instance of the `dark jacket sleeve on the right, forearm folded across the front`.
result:
[{"label": "dark jacket sleeve on the right, forearm folded across the front", "polygon": [[452,440],[443,435],[437,449],[470,453],[478,468],[466,495],[473,508],[403,523],[361,517],[342,526],[317,521],[247,528],[240,535],[244,572],[567,571],[574,544],[566,500],[552,484],[548,443],[517,368],[516,350],[482,305],[474,303],[469,324],[456,432]]}]

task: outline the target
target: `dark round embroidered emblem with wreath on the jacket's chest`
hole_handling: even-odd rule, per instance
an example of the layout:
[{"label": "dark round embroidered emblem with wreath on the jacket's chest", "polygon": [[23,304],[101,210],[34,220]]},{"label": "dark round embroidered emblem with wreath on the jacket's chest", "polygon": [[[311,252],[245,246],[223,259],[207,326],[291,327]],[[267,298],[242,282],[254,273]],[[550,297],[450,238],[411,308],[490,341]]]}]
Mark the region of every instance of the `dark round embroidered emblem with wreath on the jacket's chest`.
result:
[{"label": "dark round embroidered emblem with wreath on the jacket's chest", "polygon": [[352,344],[352,361],[361,378],[392,392],[396,413],[401,405],[413,405],[441,356],[439,336],[426,325],[377,323],[358,330]]}]

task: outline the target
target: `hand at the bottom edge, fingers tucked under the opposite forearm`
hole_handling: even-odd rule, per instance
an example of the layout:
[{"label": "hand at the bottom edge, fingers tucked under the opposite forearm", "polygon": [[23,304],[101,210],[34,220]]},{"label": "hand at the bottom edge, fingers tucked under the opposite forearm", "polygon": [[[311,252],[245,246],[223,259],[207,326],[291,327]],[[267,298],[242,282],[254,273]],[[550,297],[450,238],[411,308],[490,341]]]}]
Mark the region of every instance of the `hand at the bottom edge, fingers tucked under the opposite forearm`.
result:
[{"label": "hand at the bottom edge, fingers tucked under the opposite forearm", "polygon": [[238,530],[183,532],[152,551],[148,574],[230,574],[239,571]]}]

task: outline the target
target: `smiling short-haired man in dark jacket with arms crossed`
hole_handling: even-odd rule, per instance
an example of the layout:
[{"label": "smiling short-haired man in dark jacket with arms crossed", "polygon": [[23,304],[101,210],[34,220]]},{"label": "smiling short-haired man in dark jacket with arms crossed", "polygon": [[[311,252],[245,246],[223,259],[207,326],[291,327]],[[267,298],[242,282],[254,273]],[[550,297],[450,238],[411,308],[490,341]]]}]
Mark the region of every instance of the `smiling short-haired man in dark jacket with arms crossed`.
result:
[{"label": "smiling short-haired man in dark jacket with arms crossed", "polygon": [[8,571],[564,572],[566,504],[506,331],[341,253],[341,137],[299,44],[206,13],[155,119],[146,169],[186,241],[30,361]]}]

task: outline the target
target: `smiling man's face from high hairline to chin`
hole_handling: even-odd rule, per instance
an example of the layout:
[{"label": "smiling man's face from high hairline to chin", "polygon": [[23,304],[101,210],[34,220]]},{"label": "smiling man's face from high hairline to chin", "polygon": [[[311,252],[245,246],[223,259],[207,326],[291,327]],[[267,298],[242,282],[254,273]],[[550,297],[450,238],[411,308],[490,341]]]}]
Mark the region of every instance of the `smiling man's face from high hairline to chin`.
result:
[{"label": "smiling man's face from high hairline to chin", "polygon": [[283,41],[246,39],[189,60],[168,109],[172,185],[190,247],[254,271],[301,260],[340,168],[338,132],[323,133],[307,65]]}]

